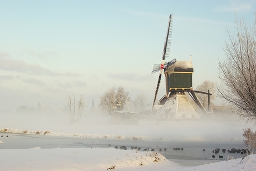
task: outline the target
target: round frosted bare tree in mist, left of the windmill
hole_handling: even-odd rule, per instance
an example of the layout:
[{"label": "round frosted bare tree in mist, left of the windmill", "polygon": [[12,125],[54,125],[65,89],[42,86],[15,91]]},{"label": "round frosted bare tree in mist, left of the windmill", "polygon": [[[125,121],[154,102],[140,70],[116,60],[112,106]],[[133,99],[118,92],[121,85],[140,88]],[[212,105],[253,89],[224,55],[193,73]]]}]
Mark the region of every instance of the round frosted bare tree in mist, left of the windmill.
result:
[{"label": "round frosted bare tree in mist, left of the windmill", "polygon": [[104,95],[100,97],[100,104],[102,110],[105,112],[113,112],[115,110],[124,109],[126,102],[130,101],[129,92],[125,92],[124,87],[111,87]]}]

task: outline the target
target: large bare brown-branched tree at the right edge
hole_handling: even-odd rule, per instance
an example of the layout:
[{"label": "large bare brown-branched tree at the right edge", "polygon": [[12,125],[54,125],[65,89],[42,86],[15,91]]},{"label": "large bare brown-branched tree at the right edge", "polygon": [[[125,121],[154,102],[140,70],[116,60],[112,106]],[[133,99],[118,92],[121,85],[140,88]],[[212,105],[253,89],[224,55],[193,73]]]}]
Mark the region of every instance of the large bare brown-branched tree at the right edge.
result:
[{"label": "large bare brown-branched tree at the right edge", "polygon": [[235,33],[228,33],[225,58],[219,61],[219,96],[242,118],[256,119],[256,25],[235,20]]}]

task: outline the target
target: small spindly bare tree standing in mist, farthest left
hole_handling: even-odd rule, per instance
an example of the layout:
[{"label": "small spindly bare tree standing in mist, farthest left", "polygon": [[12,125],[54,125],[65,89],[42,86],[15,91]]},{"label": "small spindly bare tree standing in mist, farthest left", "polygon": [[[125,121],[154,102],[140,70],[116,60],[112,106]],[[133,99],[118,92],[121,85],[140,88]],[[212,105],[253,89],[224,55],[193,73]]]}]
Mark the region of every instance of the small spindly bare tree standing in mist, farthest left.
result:
[{"label": "small spindly bare tree standing in mist, farthest left", "polygon": [[67,105],[62,109],[62,112],[70,115],[70,123],[74,123],[81,119],[81,114],[85,108],[85,98],[81,95],[80,99],[76,101],[75,96],[68,97]]}]

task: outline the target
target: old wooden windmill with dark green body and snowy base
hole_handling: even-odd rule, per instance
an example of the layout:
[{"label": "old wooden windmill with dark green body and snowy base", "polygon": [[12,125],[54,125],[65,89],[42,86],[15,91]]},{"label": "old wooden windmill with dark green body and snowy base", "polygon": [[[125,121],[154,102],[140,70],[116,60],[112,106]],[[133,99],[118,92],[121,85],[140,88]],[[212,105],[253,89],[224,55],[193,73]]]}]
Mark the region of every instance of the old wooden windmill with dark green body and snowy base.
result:
[{"label": "old wooden windmill with dark green body and snowy base", "polygon": [[169,56],[170,53],[172,28],[173,14],[170,14],[164,43],[162,63],[155,64],[151,72],[151,74],[159,72],[159,78],[157,81],[155,97],[152,104],[150,118],[152,115],[152,111],[154,110],[155,107],[155,101],[161,82],[161,76],[164,70],[166,95],[163,98],[161,98],[159,102],[161,103],[162,106],[159,109],[157,109],[156,119],[199,119],[200,117],[196,113],[195,109],[188,102],[185,92],[188,92],[190,97],[195,101],[196,104],[198,104],[199,108],[201,108],[203,113],[209,113],[209,111],[207,111],[204,108],[203,104],[201,104],[200,100],[198,99],[198,97],[196,97],[195,93],[208,94],[208,98],[209,95],[211,94],[209,93],[209,91],[208,93],[206,93],[193,90],[192,74],[194,72],[194,67],[193,63],[191,62],[191,56],[190,61],[176,61],[176,59],[174,58],[169,62],[165,62],[165,59]]}]

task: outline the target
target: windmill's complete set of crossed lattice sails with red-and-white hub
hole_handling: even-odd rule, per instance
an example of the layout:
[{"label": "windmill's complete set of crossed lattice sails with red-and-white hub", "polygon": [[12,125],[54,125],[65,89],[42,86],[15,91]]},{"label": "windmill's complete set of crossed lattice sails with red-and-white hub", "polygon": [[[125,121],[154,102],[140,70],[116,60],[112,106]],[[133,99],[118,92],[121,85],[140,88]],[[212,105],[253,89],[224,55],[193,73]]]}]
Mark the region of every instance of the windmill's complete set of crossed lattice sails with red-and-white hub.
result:
[{"label": "windmill's complete set of crossed lattice sails with red-and-white hub", "polygon": [[[160,71],[158,81],[157,81],[157,85],[156,85],[155,97],[154,97],[154,101],[153,101],[153,104],[152,104],[152,110],[154,109],[154,106],[155,106],[155,100],[156,100],[156,96],[157,96],[157,93],[158,93],[158,90],[159,90],[163,69],[164,70],[166,70],[166,69],[172,70],[172,69],[174,69],[174,65],[176,63],[176,59],[173,59],[169,62],[165,62],[165,58],[167,58],[169,56],[169,53],[170,53],[172,30],[173,30],[173,14],[170,14],[167,33],[166,33],[166,38],[165,38],[165,43],[164,43],[162,63],[161,64],[155,64],[154,67],[153,67],[153,70],[151,72],[151,74],[152,74],[152,73],[156,73],[156,72]],[[151,113],[152,113],[152,110],[151,110]]]}]

